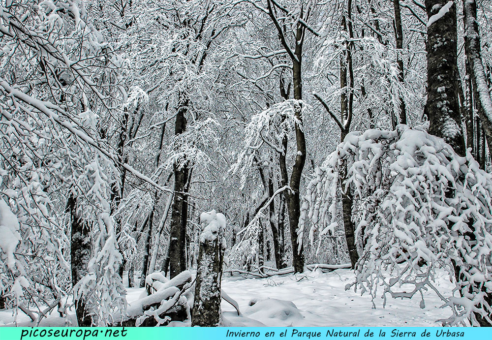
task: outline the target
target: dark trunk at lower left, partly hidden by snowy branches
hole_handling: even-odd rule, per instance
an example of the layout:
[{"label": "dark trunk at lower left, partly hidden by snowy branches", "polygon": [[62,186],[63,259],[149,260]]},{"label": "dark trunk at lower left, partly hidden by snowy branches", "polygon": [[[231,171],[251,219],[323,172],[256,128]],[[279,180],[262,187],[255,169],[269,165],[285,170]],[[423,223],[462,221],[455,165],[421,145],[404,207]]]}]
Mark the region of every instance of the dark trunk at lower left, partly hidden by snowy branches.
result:
[{"label": "dark trunk at lower left, partly hidden by snowy branches", "polygon": [[[79,215],[80,208],[77,200],[70,194],[67,201],[67,209],[70,212],[71,236],[70,236],[70,260],[72,286],[80,281],[87,274],[87,265],[91,259],[91,230],[83,218]],[[88,314],[84,297],[75,301],[75,314],[79,327],[89,327],[92,324],[92,317]]]}]

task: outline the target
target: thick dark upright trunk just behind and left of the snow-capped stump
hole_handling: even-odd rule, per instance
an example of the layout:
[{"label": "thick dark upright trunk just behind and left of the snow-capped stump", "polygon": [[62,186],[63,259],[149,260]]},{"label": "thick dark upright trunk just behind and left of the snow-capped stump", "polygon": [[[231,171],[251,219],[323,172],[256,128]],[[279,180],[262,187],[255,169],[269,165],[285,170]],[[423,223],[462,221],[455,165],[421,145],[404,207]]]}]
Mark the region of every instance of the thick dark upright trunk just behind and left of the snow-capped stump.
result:
[{"label": "thick dark upright trunk just behind and left of the snow-capped stump", "polygon": [[[176,115],[175,135],[178,136],[186,129],[186,118],[188,100],[185,99],[178,108]],[[171,214],[171,235],[169,240],[169,276],[174,278],[186,268],[185,261],[185,237],[183,227],[186,225],[187,205],[184,205],[184,187],[187,182],[188,169],[186,164],[174,164],[174,201]],[[184,268],[184,269],[183,269]]]}]

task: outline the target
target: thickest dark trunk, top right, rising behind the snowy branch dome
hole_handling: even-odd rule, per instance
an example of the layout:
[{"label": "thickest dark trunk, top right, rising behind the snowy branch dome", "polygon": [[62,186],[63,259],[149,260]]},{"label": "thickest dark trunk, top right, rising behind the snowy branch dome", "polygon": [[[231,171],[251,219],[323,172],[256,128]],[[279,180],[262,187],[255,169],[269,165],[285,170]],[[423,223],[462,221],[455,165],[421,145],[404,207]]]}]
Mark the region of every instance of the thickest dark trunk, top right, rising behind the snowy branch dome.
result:
[{"label": "thickest dark trunk, top right, rising behind the snowy branch dome", "polygon": [[[448,0],[426,0],[429,18]],[[433,10],[432,10],[433,8]],[[429,133],[443,138],[458,155],[465,155],[459,98],[456,5],[427,29],[427,103]]]}]

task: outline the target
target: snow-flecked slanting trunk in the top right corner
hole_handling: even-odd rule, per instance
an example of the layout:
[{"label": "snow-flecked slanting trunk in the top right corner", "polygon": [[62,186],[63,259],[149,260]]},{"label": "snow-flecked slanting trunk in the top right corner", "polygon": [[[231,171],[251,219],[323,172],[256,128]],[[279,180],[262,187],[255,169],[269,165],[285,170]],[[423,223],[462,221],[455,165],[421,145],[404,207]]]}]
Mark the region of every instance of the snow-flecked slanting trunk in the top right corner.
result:
[{"label": "snow-flecked slanting trunk in the top right corner", "polygon": [[477,3],[475,0],[463,0],[463,23],[464,50],[466,60],[470,67],[475,102],[487,137],[489,154],[492,155],[492,100],[482,63],[477,21]]}]

